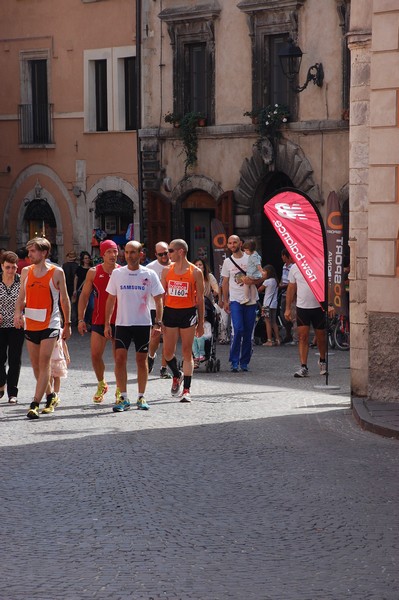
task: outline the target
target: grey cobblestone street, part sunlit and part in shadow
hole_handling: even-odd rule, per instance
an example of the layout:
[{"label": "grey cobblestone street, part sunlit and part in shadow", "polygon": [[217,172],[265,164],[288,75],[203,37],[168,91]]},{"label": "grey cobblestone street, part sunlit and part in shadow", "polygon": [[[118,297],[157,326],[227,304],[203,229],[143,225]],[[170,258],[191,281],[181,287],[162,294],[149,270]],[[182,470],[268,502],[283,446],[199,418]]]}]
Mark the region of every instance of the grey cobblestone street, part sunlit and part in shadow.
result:
[{"label": "grey cobblestone street, part sunlit and part in shadow", "polygon": [[[2,600],[397,600],[398,442],[362,431],[349,353],[256,346],[251,372],[196,372],[170,396],[159,357],[148,412],[94,405],[89,336],[74,331],[61,404],[29,421],[0,404]],[[129,397],[136,399],[134,355]],[[320,387],[315,387],[316,385]]]}]

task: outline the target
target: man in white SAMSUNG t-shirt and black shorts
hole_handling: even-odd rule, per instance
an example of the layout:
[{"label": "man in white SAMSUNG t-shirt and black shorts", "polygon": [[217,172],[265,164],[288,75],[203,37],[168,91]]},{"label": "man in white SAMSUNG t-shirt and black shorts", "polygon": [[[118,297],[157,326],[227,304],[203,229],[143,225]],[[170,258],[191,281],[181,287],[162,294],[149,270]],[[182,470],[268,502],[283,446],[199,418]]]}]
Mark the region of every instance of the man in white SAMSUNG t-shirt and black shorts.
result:
[{"label": "man in white SAMSUNG t-shirt and black shorts", "polygon": [[120,397],[113,407],[114,412],[130,408],[127,397],[127,355],[133,340],[136,348],[138,399],[137,408],[148,410],[144,392],[148,380],[148,346],[151,334],[151,297],[155,301],[155,323],[153,331],[161,329],[164,289],[158,275],[140,265],[142,257],[140,242],[130,241],[125,246],[127,266],[115,269],[107,285],[108,299],[105,308],[104,335],[112,337],[111,315],[118,300],[115,322],[115,377]]}]

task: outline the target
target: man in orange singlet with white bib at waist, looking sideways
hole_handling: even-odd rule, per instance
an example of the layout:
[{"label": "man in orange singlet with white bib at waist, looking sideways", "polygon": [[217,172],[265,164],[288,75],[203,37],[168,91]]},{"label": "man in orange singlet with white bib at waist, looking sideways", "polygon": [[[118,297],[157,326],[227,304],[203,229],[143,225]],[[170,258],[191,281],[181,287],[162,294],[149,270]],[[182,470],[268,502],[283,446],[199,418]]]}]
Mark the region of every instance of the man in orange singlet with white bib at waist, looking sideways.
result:
[{"label": "man in orange singlet with white bib at waist, looking sideways", "polygon": [[[64,340],[71,337],[71,304],[64,271],[46,261],[51,251],[50,242],[45,238],[33,238],[26,248],[31,265],[22,269],[14,327],[20,329],[25,324],[26,346],[36,378],[35,395],[26,416],[38,419],[39,404],[49,385],[51,354],[61,330],[59,300],[64,317]],[[57,394],[47,394],[42,413],[54,412],[57,404]]]}]

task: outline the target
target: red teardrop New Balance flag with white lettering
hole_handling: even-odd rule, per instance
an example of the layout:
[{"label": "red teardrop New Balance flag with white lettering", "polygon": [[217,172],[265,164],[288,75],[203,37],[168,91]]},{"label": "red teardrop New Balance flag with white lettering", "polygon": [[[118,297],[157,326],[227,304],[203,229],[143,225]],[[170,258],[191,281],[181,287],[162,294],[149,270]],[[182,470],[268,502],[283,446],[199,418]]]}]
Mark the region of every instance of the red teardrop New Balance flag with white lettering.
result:
[{"label": "red teardrop New Balance flag with white lettering", "polygon": [[266,201],[264,212],[317,300],[324,304],[326,241],[315,204],[300,190],[284,189]]}]

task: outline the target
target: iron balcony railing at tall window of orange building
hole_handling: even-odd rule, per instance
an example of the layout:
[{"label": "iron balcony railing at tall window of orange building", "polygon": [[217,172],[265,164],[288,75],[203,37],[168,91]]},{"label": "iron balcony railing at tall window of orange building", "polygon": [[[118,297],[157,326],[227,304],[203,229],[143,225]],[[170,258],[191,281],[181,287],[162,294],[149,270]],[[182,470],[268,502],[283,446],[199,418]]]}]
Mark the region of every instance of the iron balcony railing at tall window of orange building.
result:
[{"label": "iron balcony railing at tall window of orange building", "polygon": [[42,146],[54,144],[53,105],[19,105],[19,143]]}]

